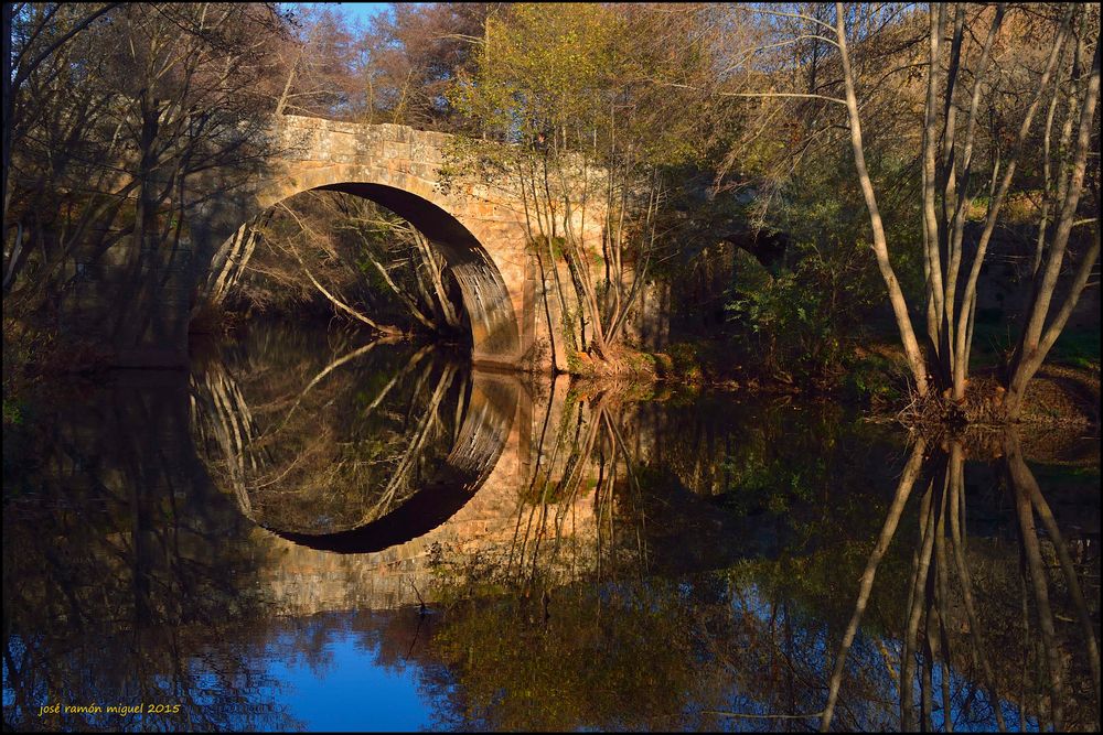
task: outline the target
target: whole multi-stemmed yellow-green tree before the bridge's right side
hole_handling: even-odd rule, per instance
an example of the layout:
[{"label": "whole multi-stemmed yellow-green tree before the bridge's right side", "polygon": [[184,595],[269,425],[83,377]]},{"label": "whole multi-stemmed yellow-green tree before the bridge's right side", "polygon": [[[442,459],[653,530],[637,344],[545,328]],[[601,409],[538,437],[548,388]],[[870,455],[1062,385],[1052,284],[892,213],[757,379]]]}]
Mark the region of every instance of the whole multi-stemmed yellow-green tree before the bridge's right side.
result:
[{"label": "whole multi-stemmed yellow-green tree before the bridge's right side", "polygon": [[623,3],[507,6],[488,18],[473,71],[449,93],[484,139],[451,147],[463,163],[449,164],[449,175],[507,180],[524,193],[533,246],[546,267],[568,266],[559,296],[581,306],[599,356],[623,337],[639,293],[633,279],[656,249],[658,212],[683,183],[676,170],[706,156],[707,131],[720,119],[704,114],[703,80],[715,79],[716,60],[707,44],[687,41],[696,22]]}]

